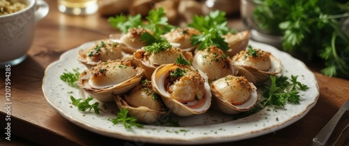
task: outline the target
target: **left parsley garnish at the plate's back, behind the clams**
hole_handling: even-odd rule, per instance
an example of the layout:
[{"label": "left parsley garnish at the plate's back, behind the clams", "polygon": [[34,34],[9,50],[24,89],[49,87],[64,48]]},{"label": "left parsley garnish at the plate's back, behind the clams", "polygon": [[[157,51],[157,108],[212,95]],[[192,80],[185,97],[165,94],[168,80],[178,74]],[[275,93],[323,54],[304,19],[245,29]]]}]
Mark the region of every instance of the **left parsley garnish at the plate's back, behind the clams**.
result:
[{"label": "left parsley garnish at the plate's back, behind the clams", "polygon": [[153,34],[149,34],[145,32],[140,36],[140,41],[144,41],[147,45],[151,45],[152,43],[161,43],[166,40],[161,37],[162,34],[169,32],[174,26],[168,24],[168,17],[165,17],[166,13],[163,8],[158,8],[157,10],[150,10],[146,19],[147,23],[142,21],[142,17],[140,14],[132,16],[128,15],[117,15],[115,17],[109,17],[109,24],[119,29],[121,32],[126,33],[128,29],[133,27],[143,27],[146,29],[150,29],[153,31]]}]

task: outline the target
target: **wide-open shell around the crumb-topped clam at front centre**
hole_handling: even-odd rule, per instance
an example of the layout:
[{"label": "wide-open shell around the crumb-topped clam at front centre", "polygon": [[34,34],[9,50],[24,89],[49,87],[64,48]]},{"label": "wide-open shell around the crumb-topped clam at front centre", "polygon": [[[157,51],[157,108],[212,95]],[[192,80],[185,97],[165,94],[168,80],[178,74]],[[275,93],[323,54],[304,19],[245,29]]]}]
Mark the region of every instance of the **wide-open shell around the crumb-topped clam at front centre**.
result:
[{"label": "wide-open shell around the crumb-topped clam at front centre", "polygon": [[[170,76],[170,71],[173,71],[178,67],[178,64],[163,64],[156,68],[153,75],[151,76],[154,92],[158,93],[161,96],[165,105],[171,110],[171,112],[176,115],[189,116],[206,112],[211,105],[211,92],[209,84],[207,82],[207,75],[200,71],[199,73],[201,77],[205,80],[205,97],[202,98],[202,100],[195,103],[195,105],[186,105],[173,98],[170,98],[170,94],[165,89],[166,78]],[[194,68],[192,68],[191,66],[184,67],[194,70]]]}]

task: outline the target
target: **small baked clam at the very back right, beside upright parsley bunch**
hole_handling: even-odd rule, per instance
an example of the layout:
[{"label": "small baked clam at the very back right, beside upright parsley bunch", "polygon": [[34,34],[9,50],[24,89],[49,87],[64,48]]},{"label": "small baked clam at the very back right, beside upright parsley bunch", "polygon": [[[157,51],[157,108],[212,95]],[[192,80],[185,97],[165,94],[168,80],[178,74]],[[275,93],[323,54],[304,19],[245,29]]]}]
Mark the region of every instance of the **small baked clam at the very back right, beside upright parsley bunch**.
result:
[{"label": "small baked clam at the very back right, beside upright parsley bunch", "polygon": [[241,31],[236,34],[225,34],[223,35],[223,38],[230,48],[225,53],[232,57],[240,51],[246,50],[248,40],[250,39],[250,31]]}]

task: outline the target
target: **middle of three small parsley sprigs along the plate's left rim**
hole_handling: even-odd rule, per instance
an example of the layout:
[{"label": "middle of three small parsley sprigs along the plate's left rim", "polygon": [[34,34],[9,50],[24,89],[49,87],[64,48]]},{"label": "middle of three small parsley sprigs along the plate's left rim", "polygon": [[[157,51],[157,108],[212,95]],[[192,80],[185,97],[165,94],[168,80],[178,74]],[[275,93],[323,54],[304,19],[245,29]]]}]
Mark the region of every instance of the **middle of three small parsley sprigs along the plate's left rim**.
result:
[{"label": "middle of three small parsley sprigs along the plate's left rim", "polygon": [[86,100],[83,100],[82,98],[74,98],[73,96],[70,96],[70,100],[72,101],[72,104],[75,105],[77,107],[78,110],[85,112],[86,110],[91,111],[92,109],[94,109],[94,112],[96,114],[99,114],[99,108],[98,105],[99,103],[93,103],[93,104],[89,104],[89,101],[92,101],[92,97],[87,98]]}]

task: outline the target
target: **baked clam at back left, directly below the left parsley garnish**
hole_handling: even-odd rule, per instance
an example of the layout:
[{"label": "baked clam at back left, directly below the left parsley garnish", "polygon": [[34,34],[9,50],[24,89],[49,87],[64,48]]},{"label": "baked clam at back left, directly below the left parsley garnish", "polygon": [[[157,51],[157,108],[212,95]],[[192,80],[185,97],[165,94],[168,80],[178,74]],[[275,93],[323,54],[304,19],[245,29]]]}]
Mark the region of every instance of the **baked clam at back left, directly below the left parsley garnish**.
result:
[{"label": "baked clam at back left, directly below the left parsley garnish", "polygon": [[140,40],[140,36],[144,33],[152,35],[153,31],[143,27],[133,27],[128,29],[126,34],[112,34],[109,38],[112,42],[119,43],[123,52],[133,54],[136,50],[147,45]]}]

